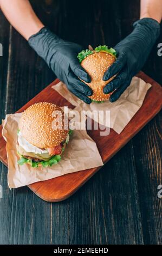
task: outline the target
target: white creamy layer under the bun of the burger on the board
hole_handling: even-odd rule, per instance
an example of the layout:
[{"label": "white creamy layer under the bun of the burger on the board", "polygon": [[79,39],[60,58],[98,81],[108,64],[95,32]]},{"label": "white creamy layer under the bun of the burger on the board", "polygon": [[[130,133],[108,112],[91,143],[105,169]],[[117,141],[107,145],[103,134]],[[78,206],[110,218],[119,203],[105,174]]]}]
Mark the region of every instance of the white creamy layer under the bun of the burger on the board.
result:
[{"label": "white creamy layer under the bun of the burger on the board", "polygon": [[34,145],[30,144],[25,138],[23,138],[21,131],[18,133],[18,144],[21,145],[21,147],[26,152],[33,152],[35,154],[48,153],[48,151],[46,149],[42,150],[42,149],[37,148]]}]

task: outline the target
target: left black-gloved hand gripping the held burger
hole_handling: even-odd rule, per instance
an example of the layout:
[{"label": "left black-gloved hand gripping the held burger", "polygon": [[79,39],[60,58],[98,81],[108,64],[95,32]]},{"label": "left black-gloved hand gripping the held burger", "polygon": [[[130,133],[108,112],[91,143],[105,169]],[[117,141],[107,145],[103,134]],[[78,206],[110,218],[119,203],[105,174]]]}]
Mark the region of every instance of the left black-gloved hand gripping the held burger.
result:
[{"label": "left black-gloved hand gripping the held burger", "polygon": [[83,50],[82,46],[60,39],[46,27],[30,36],[28,42],[55,75],[66,83],[70,92],[86,103],[91,102],[87,96],[92,95],[92,89],[79,80],[81,78],[90,82],[89,75],[77,59],[77,54]]}]

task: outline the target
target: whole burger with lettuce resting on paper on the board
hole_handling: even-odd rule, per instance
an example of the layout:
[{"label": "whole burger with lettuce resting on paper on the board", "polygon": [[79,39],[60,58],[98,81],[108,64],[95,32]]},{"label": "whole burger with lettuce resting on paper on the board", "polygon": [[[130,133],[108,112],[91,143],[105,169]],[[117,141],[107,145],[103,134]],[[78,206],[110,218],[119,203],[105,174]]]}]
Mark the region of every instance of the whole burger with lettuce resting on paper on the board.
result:
[{"label": "whole burger with lettuce resting on paper on the board", "polygon": [[17,131],[18,164],[48,167],[59,162],[72,134],[69,125],[65,126],[62,109],[53,103],[40,102],[27,108]]}]

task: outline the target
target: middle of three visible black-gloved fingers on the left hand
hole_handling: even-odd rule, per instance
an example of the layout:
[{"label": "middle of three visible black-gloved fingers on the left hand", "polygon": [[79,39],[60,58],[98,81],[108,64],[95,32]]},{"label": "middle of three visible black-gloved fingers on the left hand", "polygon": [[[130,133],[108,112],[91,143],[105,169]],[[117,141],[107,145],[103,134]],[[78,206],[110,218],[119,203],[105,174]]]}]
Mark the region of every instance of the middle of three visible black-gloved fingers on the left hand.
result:
[{"label": "middle of three visible black-gloved fingers on the left hand", "polygon": [[87,86],[85,83],[80,81],[79,78],[77,78],[72,72],[69,72],[68,81],[70,84],[73,84],[73,87],[79,92],[87,96],[90,96],[93,94],[92,89],[89,86]]}]

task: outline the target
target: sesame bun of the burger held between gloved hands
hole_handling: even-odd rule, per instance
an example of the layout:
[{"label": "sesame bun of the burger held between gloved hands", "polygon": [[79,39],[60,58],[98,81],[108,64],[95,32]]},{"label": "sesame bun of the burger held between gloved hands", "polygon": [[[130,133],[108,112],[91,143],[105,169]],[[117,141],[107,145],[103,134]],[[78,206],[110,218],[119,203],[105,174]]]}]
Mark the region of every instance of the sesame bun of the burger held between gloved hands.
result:
[{"label": "sesame bun of the burger held between gloved hands", "polygon": [[90,99],[105,101],[111,96],[112,93],[103,93],[103,87],[105,87],[107,83],[111,82],[115,76],[111,77],[107,81],[103,81],[103,75],[114,62],[115,57],[112,54],[102,51],[94,52],[82,60],[81,66],[87,71],[91,78],[90,83],[86,83],[84,81],[93,90],[93,95],[89,96]]}]

